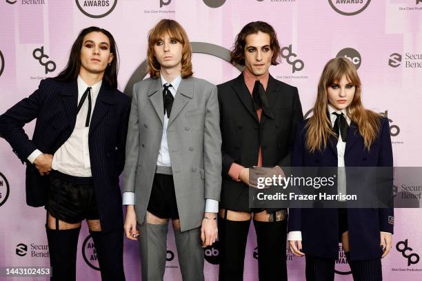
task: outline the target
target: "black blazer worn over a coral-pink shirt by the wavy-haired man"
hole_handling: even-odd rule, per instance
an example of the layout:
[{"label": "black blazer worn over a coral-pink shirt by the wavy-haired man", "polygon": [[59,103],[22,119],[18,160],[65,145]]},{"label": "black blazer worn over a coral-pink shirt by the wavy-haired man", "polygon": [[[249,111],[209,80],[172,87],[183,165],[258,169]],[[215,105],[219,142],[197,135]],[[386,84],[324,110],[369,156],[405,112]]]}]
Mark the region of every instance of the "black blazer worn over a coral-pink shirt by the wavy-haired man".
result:
[{"label": "black blazer worn over a coral-pink shirt by the wavy-haired man", "polygon": [[266,94],[274,118],[262,114],[259,123],[243,73],[217,87],[223,154],[220,207],[250,211],[248,186],[228,176],[230,166],[232,163],[243,167],[257,165],[260,140],[264,167],[290,166],[297,123],[303,120],[301,101],[297,87],[270,75]]}]

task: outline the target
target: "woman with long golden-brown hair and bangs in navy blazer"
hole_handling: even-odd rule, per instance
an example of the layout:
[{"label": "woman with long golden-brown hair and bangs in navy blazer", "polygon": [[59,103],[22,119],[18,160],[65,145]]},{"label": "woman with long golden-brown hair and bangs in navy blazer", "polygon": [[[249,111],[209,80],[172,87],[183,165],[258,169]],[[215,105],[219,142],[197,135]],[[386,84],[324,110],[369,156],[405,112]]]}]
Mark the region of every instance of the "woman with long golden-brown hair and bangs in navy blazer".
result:
[{"label": "woman with long golden-brown hair and bangs in navy blazer", "polygon": [[[392,167],[388,119],[366,110],[361,94],[356,67],[344,58],[328,61],[313,115],[297,129],[292,166]],[[338,188],[345,183],[339,176]],[[305,256],[307,280],[334,280],[339,242],[354,280],[382,280],[393,225],[392,208],[290,209],[288,240],[292,253]]]}]

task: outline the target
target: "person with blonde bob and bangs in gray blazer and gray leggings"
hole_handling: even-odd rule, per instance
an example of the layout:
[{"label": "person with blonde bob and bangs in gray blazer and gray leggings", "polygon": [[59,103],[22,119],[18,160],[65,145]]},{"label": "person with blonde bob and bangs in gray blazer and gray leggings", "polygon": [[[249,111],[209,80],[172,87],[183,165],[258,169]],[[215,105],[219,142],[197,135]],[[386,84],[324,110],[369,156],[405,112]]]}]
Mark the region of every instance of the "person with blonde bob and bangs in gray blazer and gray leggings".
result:
[{"label": "person with blonde bob and bangs in gray blazer and gray leggings", "polygon": [[169,219],[183,280],[204,280],[202,247],[217,239],[217,87],[192,77],[191,60],[185,30],[163,19],[148,35],[150,78],[133,88],[123,205],[126,236],[140,237],[142,280],[163,280]]}]

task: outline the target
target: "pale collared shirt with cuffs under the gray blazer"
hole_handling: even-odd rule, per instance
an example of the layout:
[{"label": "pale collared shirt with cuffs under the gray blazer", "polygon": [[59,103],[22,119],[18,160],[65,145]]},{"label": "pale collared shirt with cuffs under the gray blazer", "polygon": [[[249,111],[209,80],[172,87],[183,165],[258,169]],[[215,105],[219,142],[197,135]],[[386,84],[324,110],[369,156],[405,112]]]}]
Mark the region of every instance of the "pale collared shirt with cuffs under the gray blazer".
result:
[{"label": "pale collared shirt with cuffs under the gray blazer", "polygon": [[[164,90],[163,85],[167,84],[168,81],[165,81],[163,75],[161,77],[161,92]],[[177,88],[181,83],[181,75],[177,76],[173,81],[170,82],[172,87],[169,87],[168,90],[173,95],[173,98],[176,97]],[[164,114],[164,109],[163,109]],[[161,146],[159,150],[159,155],[157,158],[157,166],[171,166],[170,160],[170,152],[168,150],[168,142],[167,142],[167,126],[168,126],[169,118],[167,114],[164,114],[163,118],[163,136],[161,136]],[[134,192],[123,192],[123,205],[134,205]],[[219,211],[219,201],[213,199],[206,199],[205,200],[205,212],[210,213],[218,213]]]}]

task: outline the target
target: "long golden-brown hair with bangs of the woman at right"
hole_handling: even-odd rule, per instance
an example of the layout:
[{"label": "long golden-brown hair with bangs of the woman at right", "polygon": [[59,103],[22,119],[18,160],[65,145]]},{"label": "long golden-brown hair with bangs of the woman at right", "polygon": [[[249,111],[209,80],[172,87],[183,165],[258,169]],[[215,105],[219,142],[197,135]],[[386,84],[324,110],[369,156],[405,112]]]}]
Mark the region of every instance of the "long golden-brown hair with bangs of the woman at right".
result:
[{"label": "long golden-brown hair with bangs of the woman at right", "polygon": [[359,79],[356,67],[345,58],[330,59],[319,79],[313,115],[306,124],[306,148],[310,152],[321,152],[327,146],[330,136],[337,138],[328,117],[328,87],[338,84],[343,76],[355,87],[352,103],[347,107],[346,113],[350,120],[356,123],[366,149],[370,149],[379,132],[381,114],[365,110],[363,107],[361,79]]}]

